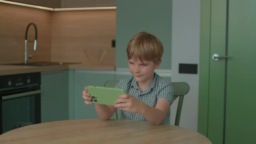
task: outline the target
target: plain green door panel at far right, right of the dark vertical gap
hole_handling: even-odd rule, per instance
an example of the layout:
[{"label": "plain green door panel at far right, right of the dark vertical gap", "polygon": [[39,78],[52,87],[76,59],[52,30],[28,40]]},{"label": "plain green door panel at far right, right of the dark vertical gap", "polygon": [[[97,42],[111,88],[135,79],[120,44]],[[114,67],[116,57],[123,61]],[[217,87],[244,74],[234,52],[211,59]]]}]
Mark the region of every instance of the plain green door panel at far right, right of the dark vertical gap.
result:
[{"label": "plain green door panel at far right, right of the dark vertical gap", "polygon": [[229,0],[225,144],[256,144],[256,0]]}]

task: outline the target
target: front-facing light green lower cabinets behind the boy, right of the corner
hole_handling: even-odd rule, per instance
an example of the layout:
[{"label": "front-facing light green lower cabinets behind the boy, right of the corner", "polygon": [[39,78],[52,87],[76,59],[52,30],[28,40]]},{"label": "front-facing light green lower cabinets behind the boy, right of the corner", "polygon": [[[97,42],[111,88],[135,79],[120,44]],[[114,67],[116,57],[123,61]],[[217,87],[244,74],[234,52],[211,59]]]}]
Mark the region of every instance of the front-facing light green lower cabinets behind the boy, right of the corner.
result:
[{"label": "front-facing light green lower cabinets behind the boy, right of the corner", "polygon": [[[115,71],[69,70],[69,119],[99,118],[94,104],[86,105],[82,91],[87,85],[104,86],[108,80],[121,80],[130,75],[119,75]],[[171,81],[171,77],[164,77]],[[118,110],[118,118],[121,111]],[[112,116],[114,118],[114,116]]]}]

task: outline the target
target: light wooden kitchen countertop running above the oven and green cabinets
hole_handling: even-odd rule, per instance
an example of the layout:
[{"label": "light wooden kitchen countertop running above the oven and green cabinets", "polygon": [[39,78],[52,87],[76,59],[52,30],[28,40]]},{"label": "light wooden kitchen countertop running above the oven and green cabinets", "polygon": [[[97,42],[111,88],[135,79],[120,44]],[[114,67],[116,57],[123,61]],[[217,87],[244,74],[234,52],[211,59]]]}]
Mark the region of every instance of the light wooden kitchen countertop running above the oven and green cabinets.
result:
[{"label": "light wooden kitchen countertop running above the oven and green cabinets", "polygon": [[47,66],[22,66],[22,65],[0,65],[0,75],[13,75],[30,72],[44,72],[60,69],[84,69],[84,70],[109,70],[114,71],[115,66],[69,64],[69,65],[47,65]]}]

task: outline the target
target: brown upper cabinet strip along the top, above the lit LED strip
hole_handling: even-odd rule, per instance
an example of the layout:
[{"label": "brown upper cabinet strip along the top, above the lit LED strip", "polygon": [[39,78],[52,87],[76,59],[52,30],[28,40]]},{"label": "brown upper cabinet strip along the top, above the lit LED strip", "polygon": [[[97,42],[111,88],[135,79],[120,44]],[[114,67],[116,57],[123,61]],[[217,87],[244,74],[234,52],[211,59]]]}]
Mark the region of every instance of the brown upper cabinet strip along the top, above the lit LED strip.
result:
[{"label": "brown upper cabinet strip along the top, above the lit LED strip", "polygon": [[50,8],[116,7],[116,0],[8,0]]}]

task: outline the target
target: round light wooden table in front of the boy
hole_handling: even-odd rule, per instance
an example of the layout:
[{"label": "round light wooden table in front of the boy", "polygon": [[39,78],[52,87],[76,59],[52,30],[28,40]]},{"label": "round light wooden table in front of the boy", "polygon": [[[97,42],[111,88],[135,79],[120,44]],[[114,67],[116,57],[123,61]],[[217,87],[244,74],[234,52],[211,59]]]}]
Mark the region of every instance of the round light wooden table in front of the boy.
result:
[{"label": "round light wooden table in front of the boy", "polygon": [[0,144],[211,144],[197,132],[148,121],[82,119],[17,128],[0,135]]}]

